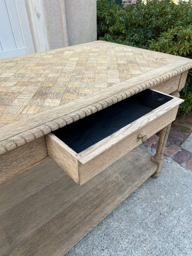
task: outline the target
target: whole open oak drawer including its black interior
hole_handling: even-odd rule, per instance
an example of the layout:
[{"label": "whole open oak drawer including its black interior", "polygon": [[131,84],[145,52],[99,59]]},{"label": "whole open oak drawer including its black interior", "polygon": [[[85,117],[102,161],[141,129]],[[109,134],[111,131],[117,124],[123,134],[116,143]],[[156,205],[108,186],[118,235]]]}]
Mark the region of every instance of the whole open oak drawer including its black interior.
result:
[{"label": "whole open oak drawer including its black interior", "polygon": [[47,134],[49,157],[81,185],[174,121],[181,102],[144,90]]}]

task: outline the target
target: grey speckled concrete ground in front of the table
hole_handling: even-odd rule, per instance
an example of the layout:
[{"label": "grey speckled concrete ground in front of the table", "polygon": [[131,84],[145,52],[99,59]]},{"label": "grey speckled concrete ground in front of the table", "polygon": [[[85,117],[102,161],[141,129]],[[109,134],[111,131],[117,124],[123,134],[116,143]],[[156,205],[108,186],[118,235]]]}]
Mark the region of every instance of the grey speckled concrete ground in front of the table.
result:
[{"label": "grey speckled concrete ground in front of the table", "polygon": [[166,159],[159,178],[146,180],[65,256],[191,256],[191,185],[192,171]]}]

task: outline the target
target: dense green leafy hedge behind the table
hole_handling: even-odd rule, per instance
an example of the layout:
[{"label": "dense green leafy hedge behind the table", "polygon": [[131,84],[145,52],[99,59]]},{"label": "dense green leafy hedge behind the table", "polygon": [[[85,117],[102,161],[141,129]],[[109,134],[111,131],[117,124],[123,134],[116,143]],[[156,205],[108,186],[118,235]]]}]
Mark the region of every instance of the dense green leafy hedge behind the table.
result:
[{"label": "dense green leafy hedge behind the table", "polygon": [[[192,0],[137,0],[127,7],[97,0],[98,39],[192,58]],[[179,113],[192,111],[192,72],[180,92]]]}]

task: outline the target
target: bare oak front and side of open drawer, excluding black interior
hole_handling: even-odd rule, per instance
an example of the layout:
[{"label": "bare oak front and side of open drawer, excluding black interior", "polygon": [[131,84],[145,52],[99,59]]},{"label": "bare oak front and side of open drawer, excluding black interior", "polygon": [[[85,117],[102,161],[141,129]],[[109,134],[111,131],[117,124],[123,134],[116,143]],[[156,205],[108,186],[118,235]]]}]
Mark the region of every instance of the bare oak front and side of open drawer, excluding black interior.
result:
[{"label": "bare oak front and side of open drawer, excluding black interior", "polygon": [[[162,97],[165,95],[164,93],[159,94]],[[58,163],[76,183],[81,185],[140,145],[142,140],[138,139],[139,134],[146,135],[149,138],[174,121],[178,106],[183,100],[170,97],[172,99],[160,107],[125,125],[79,153],[61,141],[55,134],[47,134],[45,137],[49,157]],[[78,121],[75,124],[78,128]],[[67,136],[70,136],[70,132]]]}]

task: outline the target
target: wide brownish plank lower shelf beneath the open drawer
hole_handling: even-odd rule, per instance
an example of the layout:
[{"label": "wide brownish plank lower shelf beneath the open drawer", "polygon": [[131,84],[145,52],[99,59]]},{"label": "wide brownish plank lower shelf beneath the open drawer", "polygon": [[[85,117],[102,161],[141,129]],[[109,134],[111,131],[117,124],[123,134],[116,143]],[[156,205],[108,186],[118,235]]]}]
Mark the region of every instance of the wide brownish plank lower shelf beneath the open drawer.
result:
[{"label": "wide brownish plank lower shelf beneath the open drawer", "polygon": [[0,184],[0,256],[63,256],[156,168],[135,148],[82,186],[52,160]]}]

